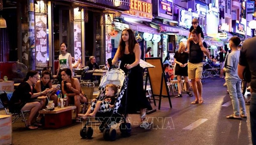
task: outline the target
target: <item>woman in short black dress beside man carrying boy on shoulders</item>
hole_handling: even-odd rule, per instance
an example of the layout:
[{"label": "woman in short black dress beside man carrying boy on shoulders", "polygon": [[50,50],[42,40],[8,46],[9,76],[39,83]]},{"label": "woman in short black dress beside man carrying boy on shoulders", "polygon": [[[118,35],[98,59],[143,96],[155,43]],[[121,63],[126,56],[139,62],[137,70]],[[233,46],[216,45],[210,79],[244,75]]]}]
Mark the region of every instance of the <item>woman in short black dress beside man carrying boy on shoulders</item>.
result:
[{"label": "woman in short black dress beside man carrying boy on shoulders", "polygon": [[178,79],[178,95],[175,97],[182,97],[181,94],[181,77],[184,77],[185,83],[186,83],[186,89],[187,89],[187,94],[189,96],[193,96],[191,92],[189,92],[189,84],[188,84],[188,53],[184,52],[186,47],[183,44],[183,42],[180,42],[180,47],[177,52],[174,54],[174,62],[176,63],[175,67],[175,75],[177,75]]}]

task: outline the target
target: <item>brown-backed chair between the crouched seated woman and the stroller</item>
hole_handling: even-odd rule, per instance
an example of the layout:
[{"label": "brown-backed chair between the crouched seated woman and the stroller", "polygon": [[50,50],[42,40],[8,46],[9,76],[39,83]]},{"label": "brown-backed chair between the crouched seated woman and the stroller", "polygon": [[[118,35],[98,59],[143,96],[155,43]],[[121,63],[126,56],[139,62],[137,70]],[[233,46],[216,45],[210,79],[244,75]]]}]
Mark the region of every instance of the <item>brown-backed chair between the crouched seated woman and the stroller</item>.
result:
[{"label": "brown-backed chair between the crouched seated woman and the stroller", "polygon": [[84,96],[87,97],[88,101],[86,103],[83,104],[83,109],[82,109],[82,113],[85,113],[86,109],[89,109],[89,103],[92,103],[92,99],[93,99],[93,91],[94,91],[94,83],[91,82],[81,82],[80,83],[81,89],[84,92]]}]

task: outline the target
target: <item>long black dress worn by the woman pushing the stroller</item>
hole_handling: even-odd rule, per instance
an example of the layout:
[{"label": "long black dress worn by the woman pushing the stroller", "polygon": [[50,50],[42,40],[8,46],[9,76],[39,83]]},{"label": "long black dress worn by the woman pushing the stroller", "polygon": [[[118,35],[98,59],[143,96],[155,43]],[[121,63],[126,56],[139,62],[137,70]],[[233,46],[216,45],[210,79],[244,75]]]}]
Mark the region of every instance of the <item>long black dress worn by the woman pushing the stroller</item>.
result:
[{"label": "long black dress worn by the woman pushing the stroller", "polygon": [[[135,61],[135,54],[129,53],[124,54],[121,58],[120,69],[122,69],[127,75],[128,69],[124,67],[125,64],[132,64]],[[140,65],[137,65],[131,68],[131,72],[128,76],[128,85],[127,85],[127,114],[135,114],[140,109],[147,108],[148,110],[152,110],[152,107],[149,101],[146,98],[146,94],[143,89],[143,74],[140,68]],[[122,106],[125,106],[125,95],[121,100]],[[124,111],[124,110],[123,110]]]}]

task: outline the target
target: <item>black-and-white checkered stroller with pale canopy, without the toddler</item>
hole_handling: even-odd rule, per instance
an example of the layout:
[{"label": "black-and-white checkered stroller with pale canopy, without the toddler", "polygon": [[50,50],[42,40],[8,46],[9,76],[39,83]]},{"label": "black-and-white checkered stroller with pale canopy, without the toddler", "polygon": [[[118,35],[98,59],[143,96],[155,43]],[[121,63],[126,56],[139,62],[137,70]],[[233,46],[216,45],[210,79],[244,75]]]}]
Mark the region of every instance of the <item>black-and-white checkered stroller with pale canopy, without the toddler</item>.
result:
[{"label": "black-and-white checkered stroller with pale canopy, without the toddler", "polygon": [[[125,106],[121,105],[121,99],[124,95],[125,90],[127,89],[128,75],[125,76],[125,73],[121,69],[110,69],[106,72],[101,79],[99,86],[99,94],[96,97],[96,100],[103,100],[105,95],[105,86],[107,84],[115,84],[118,86],[115,106],[110,112],[96,114],[95,119],[98,120],[100,124],[100,131],[103,132],[103,138],[105,140],[114,141],[116,139],[116,129],[111,128],[113,125],[116,125],[116,122],[121,123],[119,126],[121,135],[130,136],[131,133],[131,123],[126,122],[126,99]],[[127,93],[127,91],[126,91]],[[127,95],[126,95],[127,96]],[[89,124],[99,123],[99,122],[89,122],[86,121],[84,127],[80,130],[80,136],[82,138],[91,138],[93,135],[92,127],[88,127]]]}]

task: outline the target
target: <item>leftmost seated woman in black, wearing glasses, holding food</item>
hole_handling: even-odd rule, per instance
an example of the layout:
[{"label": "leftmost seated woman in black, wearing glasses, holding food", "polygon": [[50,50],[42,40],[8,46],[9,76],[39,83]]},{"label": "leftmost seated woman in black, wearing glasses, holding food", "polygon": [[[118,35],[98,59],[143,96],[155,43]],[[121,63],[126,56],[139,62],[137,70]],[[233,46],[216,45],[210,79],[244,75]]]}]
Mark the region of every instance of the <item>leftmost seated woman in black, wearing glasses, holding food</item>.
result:
[{"label": "leftmost seated woman in black, wearing glasses, holding food", "polygon": [[39,123],[31,122],[36,119],[36,114],[43,106],[43,101],[35,100],[35,99],[46,99],[46,97],[40,97],[42,94],[47,94],[50,92],[49,89],[44,90],[43,92],[35,93],[36,90],[33,85],[36,84],[38,79],[37,71],[28,71],[26,78],[22,83],[17,87],[17,89],[13,92],[12,98],[10,100],[9,111],[12,113],[30,110],[30,114],[28,116],[28,126],[29,129],[36,129],[37,126],[42,126]]}]

